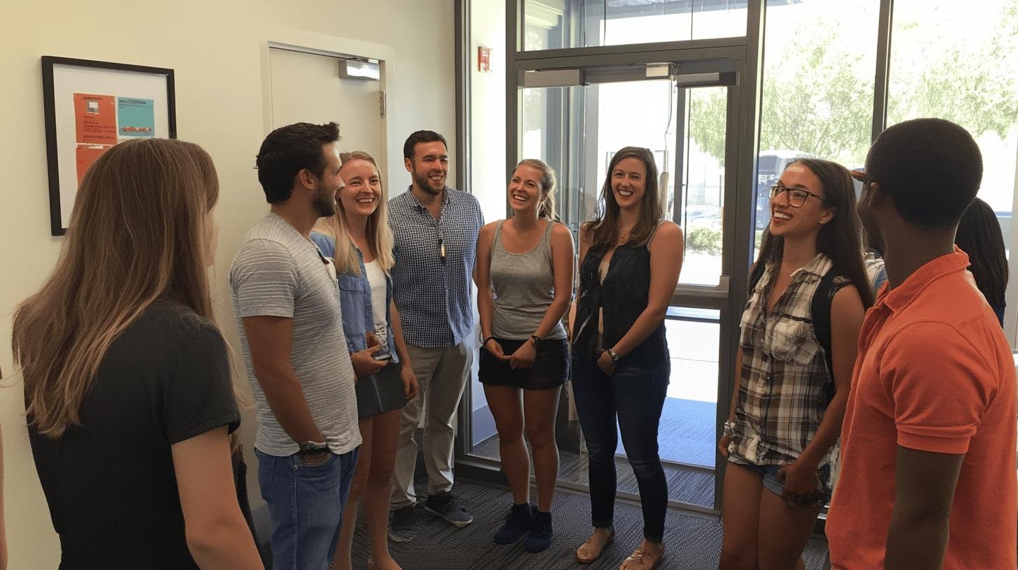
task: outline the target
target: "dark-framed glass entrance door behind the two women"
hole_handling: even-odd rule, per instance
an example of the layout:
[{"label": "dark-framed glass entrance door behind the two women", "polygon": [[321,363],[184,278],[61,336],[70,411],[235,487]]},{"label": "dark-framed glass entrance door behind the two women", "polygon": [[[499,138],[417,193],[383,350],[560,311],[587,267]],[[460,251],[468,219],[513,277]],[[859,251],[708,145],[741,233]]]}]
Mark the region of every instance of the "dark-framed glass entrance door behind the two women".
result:
[{"label": "dark-framed glass entrance door behind the two women", "polygon": [[[733,323],[730,316],[731,271],[724,269],[733,266],[735,243],[726,231],[735,226],[725,208],[734,197],[734,161],[726,161],[734,106],[726,102],[737,88],[736,74],[728,71],[731,62],[706,64],[715,70],[697,62],[697,73],[679,72],[689,65],[672,61],[524,73],[518,90],[518,153],[512,156],[510,149],[510,156],[513,162],[540,158],[556,170],[559,218],[578,239],[580,224],[595,218],[615,152],[627,146],[653,152],[662,173],[666,217],[685,235],[680,283],[666,321],[672,373],[660,453],[672,502],[713,510],[719,393],[729,390],[728,382],[719,384],[728,369],[720,363],[731,354],[722,339],[738,326],[737,317]],[[727,403],[727,397],[722,401]],[[560,480],[583,488],[586,457],[571,394],[564,394],[560,415]],[[474,436],[486,421],[474,416]],[[473,455],[498,458],[497,435],[473,441]],[[619,491],[635,495],[621,439],[617,461]]]}]

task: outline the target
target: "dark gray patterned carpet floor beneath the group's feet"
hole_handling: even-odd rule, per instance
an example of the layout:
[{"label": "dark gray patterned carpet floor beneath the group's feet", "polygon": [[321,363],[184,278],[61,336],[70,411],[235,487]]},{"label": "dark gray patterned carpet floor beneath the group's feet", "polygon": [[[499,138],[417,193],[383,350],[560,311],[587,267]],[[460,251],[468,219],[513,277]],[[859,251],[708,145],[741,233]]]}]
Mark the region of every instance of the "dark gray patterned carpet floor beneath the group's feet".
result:
[{"label": "dark gray patterned carpet floor beneath the group's feet", "polygon": [[[616,543],[598,562],[589,566],[577,564],[573,551],[590,532],[589,501],[583,495],[560,491],[553,507],[555,542],[548,551],[531,555],[523,551],[523,539],[508,546],[492,542],[511,503],[508,490],[457,480],[455,492],[462,506],[473,514],[473,523],[456,528],[419,510],[417,537],[410,543],[389,543],[393,558],[405,570],[614,570],[642,536],[639,506],[620,502],[615,510]],[[714,570],[721,550],[721,523],[714,517],[670,510],[665,543],[668,555],[659,569]],[[806,568],[822,570],[826,552],[825,540],[811,539],[804,555]],[[361,516],[354,537],[353,568],[366,567],[367,553]]]}]

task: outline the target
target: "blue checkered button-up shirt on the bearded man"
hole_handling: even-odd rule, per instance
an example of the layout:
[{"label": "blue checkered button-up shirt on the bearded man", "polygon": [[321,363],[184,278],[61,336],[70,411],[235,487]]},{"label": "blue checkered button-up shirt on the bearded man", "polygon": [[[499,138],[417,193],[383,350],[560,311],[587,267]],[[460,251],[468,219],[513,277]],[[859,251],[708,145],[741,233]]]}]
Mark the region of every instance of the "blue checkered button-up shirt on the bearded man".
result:
[{"label": "blue checkered button-up shirt on the bearded man", "polygon": [[439,348],[470,334],[470,275],[483,225],[477,200],[448,186],[438,220],[409,189],[389,201],[389,227],[396,238],[393,298],[406,342]]}]

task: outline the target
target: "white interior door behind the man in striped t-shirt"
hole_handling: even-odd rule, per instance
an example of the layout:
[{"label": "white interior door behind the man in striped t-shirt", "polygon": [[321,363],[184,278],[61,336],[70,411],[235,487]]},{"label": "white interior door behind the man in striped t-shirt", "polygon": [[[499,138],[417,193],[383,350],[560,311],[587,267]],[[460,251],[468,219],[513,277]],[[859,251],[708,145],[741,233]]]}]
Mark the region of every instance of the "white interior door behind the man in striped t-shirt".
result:
[{"label": "white interior door behind the man in striped t-shirt", "polygon": [[337,57],[279,48],[269,56],[273,128],[335,121],[340,151],[364,151],[386,172],[381,81],[340,78]]}]

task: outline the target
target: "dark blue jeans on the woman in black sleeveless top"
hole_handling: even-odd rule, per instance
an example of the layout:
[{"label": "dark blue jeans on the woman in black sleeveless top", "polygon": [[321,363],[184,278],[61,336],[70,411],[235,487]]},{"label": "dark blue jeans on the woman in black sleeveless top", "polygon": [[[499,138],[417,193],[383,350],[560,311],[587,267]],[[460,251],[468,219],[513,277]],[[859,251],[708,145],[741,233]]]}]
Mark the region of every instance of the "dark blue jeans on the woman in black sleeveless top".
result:
[{"label": "dark blue jeans on the woman in black sleeveless top", "polygon": [[589,356],[573,356],[573,396],[586,441],[593,526],[612,526],[615,515],[615,449],[618,418],[622,446],[639,486],[643,537],[660,543],[665,534],[668,481],[658,456],[658,423],[665,406],[672,364],[641,368],[625,359],[605,375]]}]

